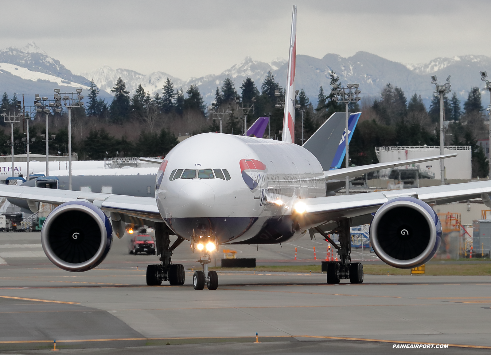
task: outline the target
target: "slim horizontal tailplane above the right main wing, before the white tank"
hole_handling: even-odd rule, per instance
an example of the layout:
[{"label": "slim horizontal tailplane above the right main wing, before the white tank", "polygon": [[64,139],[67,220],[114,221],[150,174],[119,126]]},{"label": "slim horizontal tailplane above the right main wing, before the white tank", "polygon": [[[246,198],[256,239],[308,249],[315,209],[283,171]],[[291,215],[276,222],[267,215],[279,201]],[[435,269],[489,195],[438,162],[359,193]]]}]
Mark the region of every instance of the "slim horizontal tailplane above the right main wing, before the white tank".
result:
[{"label": "slim horizontal tailplane above the right main wing, before the white tank", "polygon": [[346,178],[346,177],[348,177],[348,178],[356,178],[357,176],[360,176],[360,175],[365,174],[365,173],[369,173],[371,171],[388,169],[388,168],[393,168],[393,167],[396,167],[396,166],[404,166],[404,165],[424,163],[425,161],[432,161],[432,160],[452,158],[454,156],[457,156],[457,154],[452,153],[452,154],[428,156],[428,157],[425,157],[425,158],[416,158],[416,159],[408,159],[408,160],[397,160],[397,161],[391,161],[391,162],[388,162],[388,163],[360,165],[360,166],[354,166],[354,167],[351,167],[351,168],[327,170],[327,171],[324,172],[324,176],[325,176],[326,180],[340,179],[340,178]]}]

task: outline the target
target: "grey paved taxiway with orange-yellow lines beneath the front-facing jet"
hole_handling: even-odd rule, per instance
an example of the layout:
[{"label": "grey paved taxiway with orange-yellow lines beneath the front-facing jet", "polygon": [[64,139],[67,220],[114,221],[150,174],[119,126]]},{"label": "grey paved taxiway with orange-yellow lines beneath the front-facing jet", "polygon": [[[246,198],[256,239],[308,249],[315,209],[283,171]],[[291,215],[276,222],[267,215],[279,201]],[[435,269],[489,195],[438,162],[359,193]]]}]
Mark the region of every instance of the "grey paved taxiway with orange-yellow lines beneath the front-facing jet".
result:
[{"label": "grey paved taxiway with orange-yellow lines beneath the front-facing jet", "polygon": [[[300,257],[311,243],[292,243],[297,262],[320,262]],[[195,291],[191,271],[183,286],[146,286],[146,265],[158,257],[128,254],[125,239],[85,273],[57,269],[39,244],[39,233],[0,233],[0,352],[42,354],[53,339],[67,354],[395,354],[403,349],[394,345],[413,343],[450,347],[404,351],[491,350],[491,277],[365,275],[361,285],[327,285],[325,274],[218,272],[218,290]],[[284,244],[237,247],[244,257],[291,260]],[[183,244],[173,260],[197,266],[196,256]]]}]

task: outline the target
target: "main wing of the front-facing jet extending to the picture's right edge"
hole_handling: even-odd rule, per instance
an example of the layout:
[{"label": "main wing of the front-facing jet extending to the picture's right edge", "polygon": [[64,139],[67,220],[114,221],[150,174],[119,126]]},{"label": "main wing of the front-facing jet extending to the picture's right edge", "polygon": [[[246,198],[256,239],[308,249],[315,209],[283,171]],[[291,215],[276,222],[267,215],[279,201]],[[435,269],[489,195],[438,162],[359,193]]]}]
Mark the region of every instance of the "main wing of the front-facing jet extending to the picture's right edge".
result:
[{"label": "main wing of the front-facing jet extending to the picture's right edge", "polygon": [[[383,204],[398,197],[414,197],[428,204],[443,204],[481,198],[491,206],[491,181],[419,187],[413,189],[369,192],[297,200],[294,210],[304,215],[307,228],[344,218],[355,218],[376,212]],[[368,216],[371,220],[371,216]],[[370,221],[360,224],[370,223]]]}]

